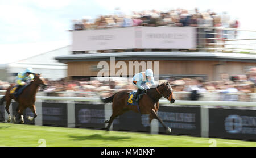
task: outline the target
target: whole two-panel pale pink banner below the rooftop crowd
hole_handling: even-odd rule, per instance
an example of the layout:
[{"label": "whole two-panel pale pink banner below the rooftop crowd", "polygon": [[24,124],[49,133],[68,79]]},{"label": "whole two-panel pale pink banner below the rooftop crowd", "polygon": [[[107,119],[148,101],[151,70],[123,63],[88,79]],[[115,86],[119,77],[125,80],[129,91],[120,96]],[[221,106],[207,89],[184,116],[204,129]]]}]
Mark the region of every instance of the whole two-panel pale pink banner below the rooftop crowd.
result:
[{"label": "whole two-panel pale pink banner below the rooftop crowd", "polygon": [[193,49],[195,27],[127,27],[73,31],[72,51],[108,49]]}]

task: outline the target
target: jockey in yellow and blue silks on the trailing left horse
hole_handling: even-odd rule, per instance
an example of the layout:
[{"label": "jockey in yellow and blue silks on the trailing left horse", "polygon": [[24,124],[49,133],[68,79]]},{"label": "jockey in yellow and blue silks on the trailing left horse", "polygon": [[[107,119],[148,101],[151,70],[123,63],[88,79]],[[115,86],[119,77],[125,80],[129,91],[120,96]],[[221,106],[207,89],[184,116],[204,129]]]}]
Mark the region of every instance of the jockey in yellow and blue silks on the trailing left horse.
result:
[{"label": "jockey in yellow and blue silks on the trailing left horse", "polygon": [[30,81],[34,80],[34,75],[32,73],[32,68],[27,68],[24,72],[18,73],[18,75],[16,76],[16,84],[18,84],[19,86],[15,89],[14,95],[17,94],[18,89],[21,86],[24,86],[28,84]]}]

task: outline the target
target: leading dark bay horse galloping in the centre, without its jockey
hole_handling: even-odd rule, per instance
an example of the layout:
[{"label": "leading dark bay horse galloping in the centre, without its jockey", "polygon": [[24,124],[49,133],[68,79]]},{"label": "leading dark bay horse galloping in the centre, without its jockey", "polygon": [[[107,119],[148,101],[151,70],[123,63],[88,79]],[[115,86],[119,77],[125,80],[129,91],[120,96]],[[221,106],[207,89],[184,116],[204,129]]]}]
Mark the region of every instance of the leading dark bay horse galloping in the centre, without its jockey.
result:
[{"label": "leading dark bay horse galloping in the centre, without its jockey", "polygon": [[175,97],[172,92],[171,85],[166,82],[158,85],[156,88],[147,89],[147,94],[142,95],[141,99],[139,100],[139,110],[136,106],[131,106],[127,104],[129,97],[129,91],[124,90],[121,92],[117,92],[109,98],[101,98],[101,101],[104,103],[112,103],[112,116],[110,120],[105,120],[105,123],[109,123],[106,127],[106,130],[109,131],[109,128],[113,122],[113,120],[122,115],[126,111],[132,110],[136,113],[141,114],[149,114],[150,116],[150,123],[152,119],[157,119],[166,128],[166,132],[171,132],[171,129],[163,123],[163,120],[158,116],[156,113],[159,109],[159,99],[164,97],[168,99],[171,103],[175,102]]}]

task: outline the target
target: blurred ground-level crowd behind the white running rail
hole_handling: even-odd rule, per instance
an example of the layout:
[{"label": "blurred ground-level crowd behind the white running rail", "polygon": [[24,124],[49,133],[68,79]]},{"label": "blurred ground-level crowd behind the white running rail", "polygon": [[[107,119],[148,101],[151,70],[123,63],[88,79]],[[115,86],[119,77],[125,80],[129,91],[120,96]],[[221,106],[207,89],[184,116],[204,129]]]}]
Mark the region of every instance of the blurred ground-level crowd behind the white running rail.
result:
[{"label": "blurred ground-level crowd behind the white running rail", "polygon": [[[166,80],[172,85],[176,99],[180,100],[255,101],[256,99],[255,95],[254,98],[251,95],[256,93],[256,67],[251,68],[246,75],[231,78],[223,73],[220,81],[205,81],[201,77],[169,77],[160,78],[159,83]],[[66,97],[98,97],[101,95],[109,97],[121,90],[136,90],[130,78],[46,81],[48,87],[40,89],[38,95]],[[0,82],[2,90],[6,90],[9,85],[7,82]],[[213,93],[214,95],[212,95]],[[4,94],[2,93],[2,95]]]}]

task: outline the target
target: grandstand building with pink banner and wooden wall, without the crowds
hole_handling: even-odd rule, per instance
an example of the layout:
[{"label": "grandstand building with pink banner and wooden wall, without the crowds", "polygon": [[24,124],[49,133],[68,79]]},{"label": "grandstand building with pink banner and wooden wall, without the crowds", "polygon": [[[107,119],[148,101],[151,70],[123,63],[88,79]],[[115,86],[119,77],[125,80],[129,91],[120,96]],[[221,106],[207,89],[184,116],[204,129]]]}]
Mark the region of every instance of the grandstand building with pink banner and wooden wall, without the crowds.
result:
[{"label": "grandstand building with pink banner and wooden wall, without the crowds", "polygon": [[[204,77],[209,81],[221,80],[221,74],[237,76],[256,66],[256,55],[241,53],[240,49],[222,47],[220,50],[201,47],[195,27],[128,27],[103,30],[72,31],[72,55],[55,59],[68,65],[69,79],[97,76],[103,68],[100,61],[110,65],[124,61],[158,61],[159,77]],[[206,36],[205,36],[206,37]],[[216,44],[216,43],[210,43]],[[226,53],[225,51],[229,51]],[[103,52],[103,53],[98,53]],[[225,52],[225,53],[224,53]],[[154,64],[152,69],[154,70]],[[115,73],[121,68],[115,68]],[[132,77],[127,73],[122,77]],[[113,76],[108,69],[109,77]],[[140,68],[140,70],[143,70]],[[114,73],[114,74],[115,74]],[[108,77],[108,76],[105,76]]]}]

